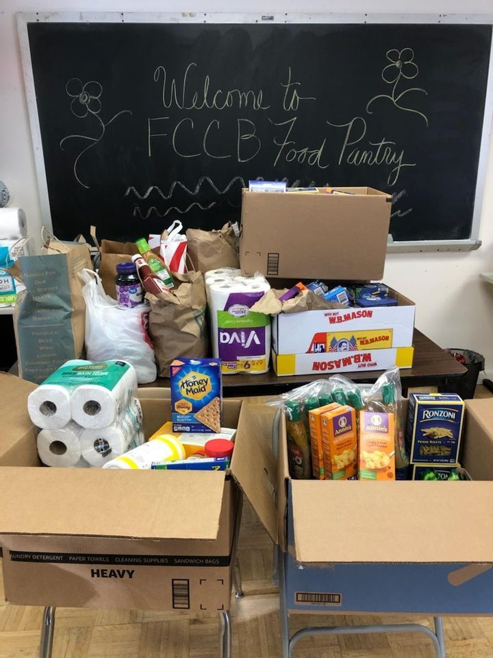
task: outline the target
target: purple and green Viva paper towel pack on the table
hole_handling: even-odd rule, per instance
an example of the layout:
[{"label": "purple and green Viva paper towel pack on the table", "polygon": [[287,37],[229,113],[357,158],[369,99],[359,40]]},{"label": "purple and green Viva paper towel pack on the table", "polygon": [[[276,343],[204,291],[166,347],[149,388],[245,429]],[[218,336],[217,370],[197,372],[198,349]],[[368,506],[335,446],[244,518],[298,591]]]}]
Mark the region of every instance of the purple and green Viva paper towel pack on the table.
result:
[{"label": "purple and green Viva paper towel pack on the table", "polygon": [[270,289],[261,274],[242,276],[223,267],[205,273],[212,353],[224,374],[267,372],[270,360],[270,316],[250,308]]}]

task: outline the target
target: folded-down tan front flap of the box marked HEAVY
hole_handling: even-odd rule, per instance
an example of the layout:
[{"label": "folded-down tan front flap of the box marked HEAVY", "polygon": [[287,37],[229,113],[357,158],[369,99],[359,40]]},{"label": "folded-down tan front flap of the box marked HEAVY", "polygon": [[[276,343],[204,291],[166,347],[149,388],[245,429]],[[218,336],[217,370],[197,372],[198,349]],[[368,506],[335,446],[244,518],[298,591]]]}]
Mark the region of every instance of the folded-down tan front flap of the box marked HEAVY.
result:
[{"label": "folded-down tan front flap of the box marked HEAVY", "polygon": [[169,471],[162,478],[156,471],[111,469],[10,467],[2,471],[2,535],[217,537],[223,473]]}]

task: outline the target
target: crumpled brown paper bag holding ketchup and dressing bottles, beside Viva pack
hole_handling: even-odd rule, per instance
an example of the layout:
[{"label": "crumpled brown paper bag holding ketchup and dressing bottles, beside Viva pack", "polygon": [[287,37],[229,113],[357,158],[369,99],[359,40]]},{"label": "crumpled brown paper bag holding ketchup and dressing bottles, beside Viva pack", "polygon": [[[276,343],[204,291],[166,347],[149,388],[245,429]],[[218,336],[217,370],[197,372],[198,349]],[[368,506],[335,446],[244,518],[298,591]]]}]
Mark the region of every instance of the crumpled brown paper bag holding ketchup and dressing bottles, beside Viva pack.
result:
[{"label": "crumpled brown paper bag holding ketchup and dressing bottles, beside Viva pack", "polygon": [[201,272],[173,274],[172,293],[147,293],[151,304],[149,334],[154,343],[157,372],[169,377],[171,361],[179,356],[203,357],[209,350],[205,286]]}]

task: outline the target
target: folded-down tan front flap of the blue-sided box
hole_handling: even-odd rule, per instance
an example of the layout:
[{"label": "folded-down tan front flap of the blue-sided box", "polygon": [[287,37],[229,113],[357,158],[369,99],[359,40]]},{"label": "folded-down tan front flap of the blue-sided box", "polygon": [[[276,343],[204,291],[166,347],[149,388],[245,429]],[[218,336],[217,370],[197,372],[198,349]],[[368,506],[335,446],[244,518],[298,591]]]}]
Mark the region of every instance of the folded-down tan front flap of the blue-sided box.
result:
[{"label": "folded-down tan front flap of the blue-sided box", "polygon": [[319,485],[292,482],[301,563],[493,562],[493,487],[488,482]]}]

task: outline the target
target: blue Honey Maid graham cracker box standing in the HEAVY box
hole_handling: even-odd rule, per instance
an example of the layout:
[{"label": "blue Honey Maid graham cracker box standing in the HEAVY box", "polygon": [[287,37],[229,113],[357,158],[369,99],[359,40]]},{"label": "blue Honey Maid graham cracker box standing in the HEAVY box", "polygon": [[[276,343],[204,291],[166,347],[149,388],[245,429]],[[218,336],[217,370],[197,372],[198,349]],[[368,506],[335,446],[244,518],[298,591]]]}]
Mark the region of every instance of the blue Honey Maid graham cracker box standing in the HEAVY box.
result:
[{"label": "blue Honey Maid graham cracker box standing in the HEAVY box", "polygon": [[219,432],[223,392],[220,360],[175,358],[170,380],[173,432]]}]

